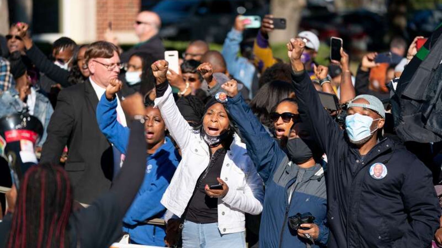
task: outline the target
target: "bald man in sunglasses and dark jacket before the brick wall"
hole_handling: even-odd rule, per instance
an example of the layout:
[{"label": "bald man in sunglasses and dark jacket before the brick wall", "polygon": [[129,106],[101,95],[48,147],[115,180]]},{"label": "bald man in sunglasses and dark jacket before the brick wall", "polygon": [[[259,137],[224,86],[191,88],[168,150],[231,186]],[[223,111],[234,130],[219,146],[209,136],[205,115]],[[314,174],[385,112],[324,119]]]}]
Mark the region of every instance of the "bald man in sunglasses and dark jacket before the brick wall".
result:
[{"label": "bald man in sunglasses and dark jacket before the brick wall", "polygon": [[154,60],[163,60],[165,49],[158,35],[160,27],[161,19],[155,12],[141,11],[138,13],[133,28],[140,42],[122,53],[121,61],[126,63],[129,61],[130,56],[137,52],[149,53]]}]

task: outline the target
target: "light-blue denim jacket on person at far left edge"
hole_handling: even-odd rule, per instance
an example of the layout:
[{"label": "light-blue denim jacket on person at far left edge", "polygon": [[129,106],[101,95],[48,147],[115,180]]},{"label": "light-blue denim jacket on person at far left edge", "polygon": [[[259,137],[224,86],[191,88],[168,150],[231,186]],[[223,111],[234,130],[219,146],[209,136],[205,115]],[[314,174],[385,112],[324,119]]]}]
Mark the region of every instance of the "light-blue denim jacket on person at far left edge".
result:
[{"label": "light-blue denim jacket on person at far left edge", "polygon": [[[37,143],[37,147],[42,147],[43,143],[46,141],[47,128],[49,120],[54,112],[52,105],[46,96],[41,93],[36,92],[35,97],[35,107],[34,115],[42,122],[43,125],[43,136]],[[10,88],[0,95],[0,117],[13,113],[23,113],[25,111],[25,105],[23,101],[19,98],[19,92],[15,87]]]}]

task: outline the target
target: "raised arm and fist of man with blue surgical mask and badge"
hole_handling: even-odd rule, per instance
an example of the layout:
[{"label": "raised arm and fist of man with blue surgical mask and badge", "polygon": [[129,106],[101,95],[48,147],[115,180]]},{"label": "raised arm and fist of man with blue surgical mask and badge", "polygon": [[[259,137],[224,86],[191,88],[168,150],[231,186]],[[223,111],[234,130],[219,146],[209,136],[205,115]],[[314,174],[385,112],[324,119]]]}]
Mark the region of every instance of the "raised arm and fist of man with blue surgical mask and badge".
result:
[{"label": "raised arm and fist of man with blue surgical mask and badge", "polygon": [[309,118],[315,137],[326,154],[334,154],[337,139],[343,139],[343,132],[321,104],[319,95],[301,62],[305,43],[301,39],[291,39],[287,44],[292,65],[292,83],[302,118]]}]

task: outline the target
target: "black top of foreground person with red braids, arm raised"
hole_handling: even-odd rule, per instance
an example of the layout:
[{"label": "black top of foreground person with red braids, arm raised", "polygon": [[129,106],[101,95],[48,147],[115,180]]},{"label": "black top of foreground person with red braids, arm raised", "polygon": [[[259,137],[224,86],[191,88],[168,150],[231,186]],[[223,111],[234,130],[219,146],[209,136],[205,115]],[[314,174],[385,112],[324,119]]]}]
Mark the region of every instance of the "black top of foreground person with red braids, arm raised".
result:
[{"label": "black top of foreground person with red braids, arm raised", "polygon": [[[70,215],[67,227],[69,248],[109,247],[121,237],[121,220],[143,182],[146,168],[144,125],[134,121],[130,128],[127,157],[110,191],[101,195],[88,208]],[[0,222],[0,247],[6,244],[11,224],[11,214]]]}]

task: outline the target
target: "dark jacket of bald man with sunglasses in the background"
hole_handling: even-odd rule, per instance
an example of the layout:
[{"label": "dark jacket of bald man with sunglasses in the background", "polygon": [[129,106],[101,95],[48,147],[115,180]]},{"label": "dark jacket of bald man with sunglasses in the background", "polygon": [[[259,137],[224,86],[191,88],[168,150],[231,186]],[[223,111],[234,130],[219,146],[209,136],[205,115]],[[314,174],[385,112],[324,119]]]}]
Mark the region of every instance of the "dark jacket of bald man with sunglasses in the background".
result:
[{"label": "dark jacket of bald man with sunglasses in the background", "polygon": [[122,63],[127,63],[132,54],[137,52],[145,52],[152,55],[155,60],[164,60],[164,46],[163,41],[161,41],[160,36],[155,35],[147,41],[140,42],[134,45],[132,48],[122,53],[120,58]]}]

